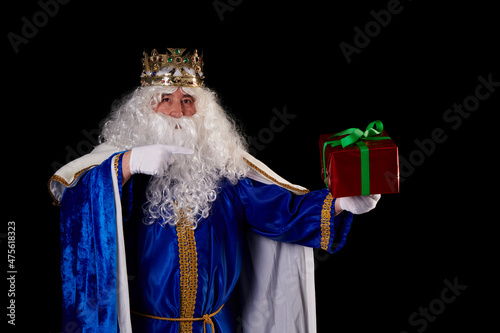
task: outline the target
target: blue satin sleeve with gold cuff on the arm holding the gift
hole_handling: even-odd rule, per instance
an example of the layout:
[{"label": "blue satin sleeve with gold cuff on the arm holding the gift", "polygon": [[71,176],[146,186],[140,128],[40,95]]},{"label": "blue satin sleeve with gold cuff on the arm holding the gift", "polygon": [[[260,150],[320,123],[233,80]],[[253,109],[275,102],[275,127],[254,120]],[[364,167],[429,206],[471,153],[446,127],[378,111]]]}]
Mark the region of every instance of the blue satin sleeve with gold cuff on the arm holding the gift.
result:
[{"label": "blue satin sleeve with gold cuff on the arm holding the gift", "polygon": [[286,188],[247,178],[235,188],[245,220],[255,233],[330,253],[345,243],[352,214],[342,212],[328,189],[297,195]]}]

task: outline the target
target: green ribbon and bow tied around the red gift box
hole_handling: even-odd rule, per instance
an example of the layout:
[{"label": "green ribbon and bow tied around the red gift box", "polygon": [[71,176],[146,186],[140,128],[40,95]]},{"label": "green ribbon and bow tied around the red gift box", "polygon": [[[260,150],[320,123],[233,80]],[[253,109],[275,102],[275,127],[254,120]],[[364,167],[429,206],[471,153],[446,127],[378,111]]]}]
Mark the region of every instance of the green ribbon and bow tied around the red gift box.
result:
[{"label": "green ribbon and bow tied around the red gift box", "polygon": [[384,125],[380,120],[372,121],[366,126],[366,130],[362,131],[359,128],[348,128],[341,132],[335,133],[329,137],[333,138],[335,136],[346,135],[346,137],[335,140],[326,141],[323,144],[323,172],[325,174],[325,184],[328,187],[328,180],[326,177],[326,157],[325,150],[328,145],[331,147],[342,146],[342,148],[348,147],[350,145],[356,144],[361,152],[361,195],[370,194],[370,153],[366,144],[363,142],[365,140],[387,140],[390,139],[388,136],[376,136],[382,133],[384,130]]}]

